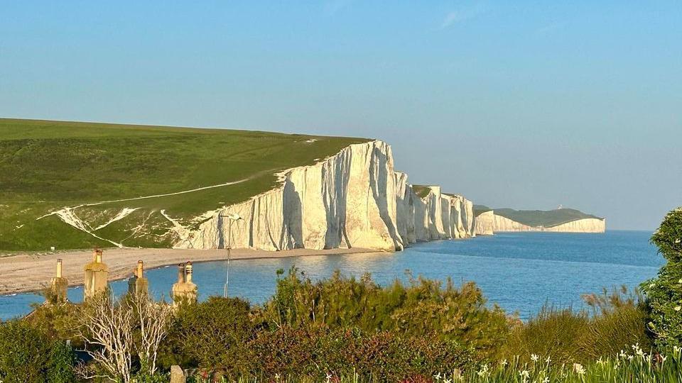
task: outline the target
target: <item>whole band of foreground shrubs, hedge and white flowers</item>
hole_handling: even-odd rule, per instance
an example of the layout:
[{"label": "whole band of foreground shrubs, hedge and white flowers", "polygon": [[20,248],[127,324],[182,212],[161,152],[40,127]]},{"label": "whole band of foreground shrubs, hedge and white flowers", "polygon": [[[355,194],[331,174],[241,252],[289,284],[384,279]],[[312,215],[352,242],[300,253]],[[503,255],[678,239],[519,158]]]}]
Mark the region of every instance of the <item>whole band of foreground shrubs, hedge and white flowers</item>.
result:
[{"label": "whole band of foreground shrubs, hedge and white flowers", "polygon": [[313,282],[296,268],[260,306],[212,297],[170,311],[144,294],[46,304],[0,325],[0,379],[167,382],[180,365],[190,382],[681,381],[680,238],[671,211],[651,239],[668,263],[641,292],[605,289],[583,296],[588,309],[547,305],[525,322],[472,283]]}]

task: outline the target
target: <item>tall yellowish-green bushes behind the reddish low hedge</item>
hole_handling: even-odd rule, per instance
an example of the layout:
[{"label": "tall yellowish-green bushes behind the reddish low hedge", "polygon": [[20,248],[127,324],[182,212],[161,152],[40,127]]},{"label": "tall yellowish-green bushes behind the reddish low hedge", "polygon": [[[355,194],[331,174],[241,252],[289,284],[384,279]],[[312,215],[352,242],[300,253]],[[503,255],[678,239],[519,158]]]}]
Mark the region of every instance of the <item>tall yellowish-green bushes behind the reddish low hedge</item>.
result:
[{"label": "tall yellowish-green bushes behind the reddish low hedge", "polygon": [[379,287],[369,275],[357,281],[335,272],[313,283],[291,269],[279,278],[274,297],[261,315],[272,326],[324,325],[362,331],[396,331],[401,335],[454,340],[491,355],[509,333],[510,319],[497,305],[489,308],[472,282],[454,287],[439,281],[399,280]]}]

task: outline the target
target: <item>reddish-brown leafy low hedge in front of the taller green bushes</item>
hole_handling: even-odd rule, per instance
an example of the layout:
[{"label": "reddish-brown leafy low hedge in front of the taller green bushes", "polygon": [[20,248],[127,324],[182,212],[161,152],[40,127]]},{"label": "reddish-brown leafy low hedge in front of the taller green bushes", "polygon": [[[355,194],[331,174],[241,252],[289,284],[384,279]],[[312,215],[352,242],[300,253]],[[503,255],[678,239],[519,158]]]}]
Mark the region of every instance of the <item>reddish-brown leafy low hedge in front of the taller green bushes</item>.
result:
[{"label": "reddish-brown leafy low hedge in front of the taller green bushes", "polygon": [[256,363],[250,374],[296,374],[318,381],[358,374],[378,381],[431,377],[438,371],[472,364],[472,350],[452,340],[364,333],[357,328],[284,326],[261,331],[249,344]]}]

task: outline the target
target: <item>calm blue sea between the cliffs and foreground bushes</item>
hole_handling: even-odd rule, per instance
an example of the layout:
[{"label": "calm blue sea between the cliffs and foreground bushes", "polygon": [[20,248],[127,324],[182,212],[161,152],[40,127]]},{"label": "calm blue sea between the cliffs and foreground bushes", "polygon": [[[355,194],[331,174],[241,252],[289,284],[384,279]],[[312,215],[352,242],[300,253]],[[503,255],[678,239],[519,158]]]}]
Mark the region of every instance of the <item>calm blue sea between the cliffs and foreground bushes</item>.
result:
[{"label": "calm blue sea between the cliffs and foreground bushes", "polygon": [[[656,275],[664,263],[649,244],[651,232],[607,231],[604,234],[499,233],[469,240],[443,240],[413,245],[402,252],[323,255],[266,260],[234,260],[230,264],[229,293],[260,304],[273,294],[276,270],[295,265],[308,277],[329,277],[334,270],[360,276],[369,272],[379,284],[415,276],[455,283],[476,282],[489,302],[521,318],[536,313],[545,303],[583,306],[580,294],[625,284],[637,287]],[[226,262],[196,263],[195,282],[200,299],[222,295]],[[168,296],[177,277],[175,267],[149,270],[151,290]],[[126,281],[114,282],[124,292]],[[72,301],[82,300],[82,288],[70,289]],[[0,296],[0,319],[28,313],[35,294]]]}]

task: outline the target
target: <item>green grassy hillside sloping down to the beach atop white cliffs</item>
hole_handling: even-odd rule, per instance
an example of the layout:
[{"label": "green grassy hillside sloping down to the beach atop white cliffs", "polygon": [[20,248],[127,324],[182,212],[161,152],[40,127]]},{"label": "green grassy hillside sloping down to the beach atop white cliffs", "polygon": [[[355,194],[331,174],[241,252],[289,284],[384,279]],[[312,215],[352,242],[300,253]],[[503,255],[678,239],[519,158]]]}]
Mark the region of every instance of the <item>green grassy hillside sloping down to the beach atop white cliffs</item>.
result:
[{"label": "green grassy hillside sloping down to the beach atop white cliffs", "polygon": [[[314,142],[306,142],[315,139]],[[207,187],[188,194],[87,206],[92,227],[138,208],[95,233],[129,246],[168,246],[171,223],[276,185],[274,173],[310,165],[362,138],[223,129],[0,119],[0,251],[110,246],[45,213],[63,206]],[[135,231],[134,228],[142,228]],[[23,226],[22,226],[23,225]]]}]

